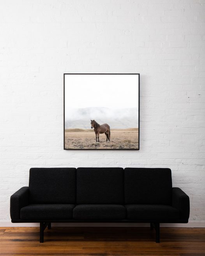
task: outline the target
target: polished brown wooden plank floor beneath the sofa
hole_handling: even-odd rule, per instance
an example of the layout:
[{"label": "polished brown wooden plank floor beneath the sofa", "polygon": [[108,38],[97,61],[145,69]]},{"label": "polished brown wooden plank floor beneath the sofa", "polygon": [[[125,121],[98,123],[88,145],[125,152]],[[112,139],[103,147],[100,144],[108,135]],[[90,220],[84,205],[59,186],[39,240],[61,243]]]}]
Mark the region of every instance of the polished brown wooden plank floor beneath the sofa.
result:
[{"label": "polished brown wooden plank floor beneath the sofa", "polygon": [[205,229],[161,228],[161,242],[147,227],[52,227],[39,243],[37,227],[0,228],[1,256],[205,256]]}]

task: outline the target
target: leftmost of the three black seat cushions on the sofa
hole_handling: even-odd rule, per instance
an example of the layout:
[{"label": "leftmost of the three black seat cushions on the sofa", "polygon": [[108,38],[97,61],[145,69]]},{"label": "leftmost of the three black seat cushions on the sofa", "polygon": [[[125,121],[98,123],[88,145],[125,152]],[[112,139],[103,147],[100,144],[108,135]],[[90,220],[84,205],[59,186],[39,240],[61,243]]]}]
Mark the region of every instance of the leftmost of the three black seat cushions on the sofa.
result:
[{"label": "leftmost of the three black seat cushions on the sofa", "polygon": [[29,204],[21,208],[23,220],[68,220],[72,219],[74,204]]}]

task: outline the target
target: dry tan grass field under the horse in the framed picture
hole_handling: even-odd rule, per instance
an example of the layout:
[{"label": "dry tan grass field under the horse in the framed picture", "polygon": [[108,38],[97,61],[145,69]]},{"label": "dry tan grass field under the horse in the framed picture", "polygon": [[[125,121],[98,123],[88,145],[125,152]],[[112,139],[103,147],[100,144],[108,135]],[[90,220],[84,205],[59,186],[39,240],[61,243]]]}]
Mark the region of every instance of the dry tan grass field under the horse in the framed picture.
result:
[{"label": "dry tan grass field under the horse in the framed picture", "polygon": [[66,129],[65,149],[138,149],[138,128],[112,129],[110,141],[106,135],[100,134],[95,142],[95,132],[92,129]]}]

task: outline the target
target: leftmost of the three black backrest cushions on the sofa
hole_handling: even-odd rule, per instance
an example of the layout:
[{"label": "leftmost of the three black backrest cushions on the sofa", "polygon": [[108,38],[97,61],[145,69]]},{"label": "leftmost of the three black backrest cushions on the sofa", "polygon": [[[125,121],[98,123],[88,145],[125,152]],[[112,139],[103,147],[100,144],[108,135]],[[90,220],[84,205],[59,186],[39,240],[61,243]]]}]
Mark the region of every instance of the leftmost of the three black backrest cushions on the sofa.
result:
[{"label": "leftmost of the three black backrest cushions on the sofa", "polygon": [[75,204],[76,168],[31,168],[30,203]]}]

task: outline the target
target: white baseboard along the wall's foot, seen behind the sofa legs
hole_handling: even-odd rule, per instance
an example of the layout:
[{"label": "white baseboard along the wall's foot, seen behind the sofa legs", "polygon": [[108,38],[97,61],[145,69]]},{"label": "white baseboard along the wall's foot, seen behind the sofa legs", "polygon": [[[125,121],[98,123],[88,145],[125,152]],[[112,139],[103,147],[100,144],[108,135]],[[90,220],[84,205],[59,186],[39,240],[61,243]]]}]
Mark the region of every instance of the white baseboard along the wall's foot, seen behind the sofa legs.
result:
[{"label": "white baseboard along the wall's foot, seen behind the sofa legs", "polygon": [[[38,223],[1,221],[0,227],[38,227]],[[53,227],[149,227],[148,223],[53,223]],[[161,227],[205,227],[205,222],[162,223]]]}]

